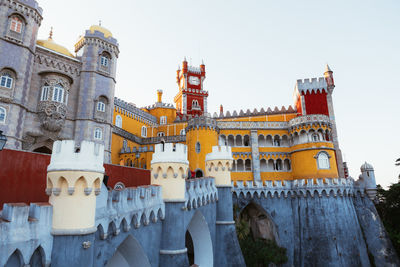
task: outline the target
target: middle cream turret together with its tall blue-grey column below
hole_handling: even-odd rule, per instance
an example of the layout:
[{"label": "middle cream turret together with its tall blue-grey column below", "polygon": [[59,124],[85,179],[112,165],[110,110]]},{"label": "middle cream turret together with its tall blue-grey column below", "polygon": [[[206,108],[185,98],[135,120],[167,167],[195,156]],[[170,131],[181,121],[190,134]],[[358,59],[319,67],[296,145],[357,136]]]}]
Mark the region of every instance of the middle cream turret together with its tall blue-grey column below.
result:
[{"label": "middle cream turret together with its tall blue-grey column below", "polygon": [[151,160],[151,184],[161,185],[165,202],[161,266],[189,266],[183,214],[188,169],[186,145],[167,143],[155,146]]}]

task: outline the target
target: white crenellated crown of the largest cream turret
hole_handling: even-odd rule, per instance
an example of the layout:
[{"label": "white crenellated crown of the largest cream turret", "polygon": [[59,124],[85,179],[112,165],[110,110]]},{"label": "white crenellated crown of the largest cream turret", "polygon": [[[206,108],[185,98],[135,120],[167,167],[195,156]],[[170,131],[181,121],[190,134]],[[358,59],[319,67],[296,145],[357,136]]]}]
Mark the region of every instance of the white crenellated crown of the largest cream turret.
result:
[{"label": "white crenellated crown of the largest cream turret", "polygon": [[47,171],[89,171],[104,173],[104,145],[82,141],[77,147],[73,140],[56,141]]}]

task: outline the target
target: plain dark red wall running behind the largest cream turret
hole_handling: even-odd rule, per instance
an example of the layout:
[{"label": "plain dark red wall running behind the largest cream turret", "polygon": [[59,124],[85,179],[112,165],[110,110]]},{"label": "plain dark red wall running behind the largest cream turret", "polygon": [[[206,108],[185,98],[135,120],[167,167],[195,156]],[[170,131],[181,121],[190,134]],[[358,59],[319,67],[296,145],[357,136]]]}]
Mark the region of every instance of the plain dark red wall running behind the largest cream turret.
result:
[{"label": "plain dark red wall running behind the largest cream turret", "polygon": [[[45,194],[50,155],[4,149],[0,151],[0,209],[4,203],[48,202]],[[121,181],[126,187],[149,185],[150,171],[104,164],[108,186]]]}]

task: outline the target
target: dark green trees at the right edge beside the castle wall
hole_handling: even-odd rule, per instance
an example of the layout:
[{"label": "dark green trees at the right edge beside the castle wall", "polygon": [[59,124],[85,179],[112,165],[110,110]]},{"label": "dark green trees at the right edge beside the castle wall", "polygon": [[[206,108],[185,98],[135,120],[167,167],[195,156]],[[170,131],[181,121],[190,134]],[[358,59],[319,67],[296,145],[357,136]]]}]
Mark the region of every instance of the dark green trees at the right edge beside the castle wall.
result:
[{"label": "dark green trees at the right edge beside the castle wall", "polygon": [[383,189],[380,185],[377,188],[376,209],[397,255],[400,255],[400,182],[392,184],[388,190]]}]

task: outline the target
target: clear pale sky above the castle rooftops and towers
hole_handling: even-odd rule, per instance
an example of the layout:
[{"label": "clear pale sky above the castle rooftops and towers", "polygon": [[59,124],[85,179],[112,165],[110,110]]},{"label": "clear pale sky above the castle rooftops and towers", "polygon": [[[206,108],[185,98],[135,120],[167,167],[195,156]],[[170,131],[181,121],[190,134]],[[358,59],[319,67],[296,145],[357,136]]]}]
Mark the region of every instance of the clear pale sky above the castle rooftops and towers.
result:
[{"label": "clear pale sky above the castle rooftops and towers", "polygon": [[38,0],[39,39],[73,45],[102,21],[120,44],[116,96],[142,107],[156,90],[173,103],[184,56],[204,59],[208,109],[293,105],[297,79],[323,75],[336,88],[339,142],[350,175],[364,161],[377,183],[397,182],[400,167],[400,1]]}]

